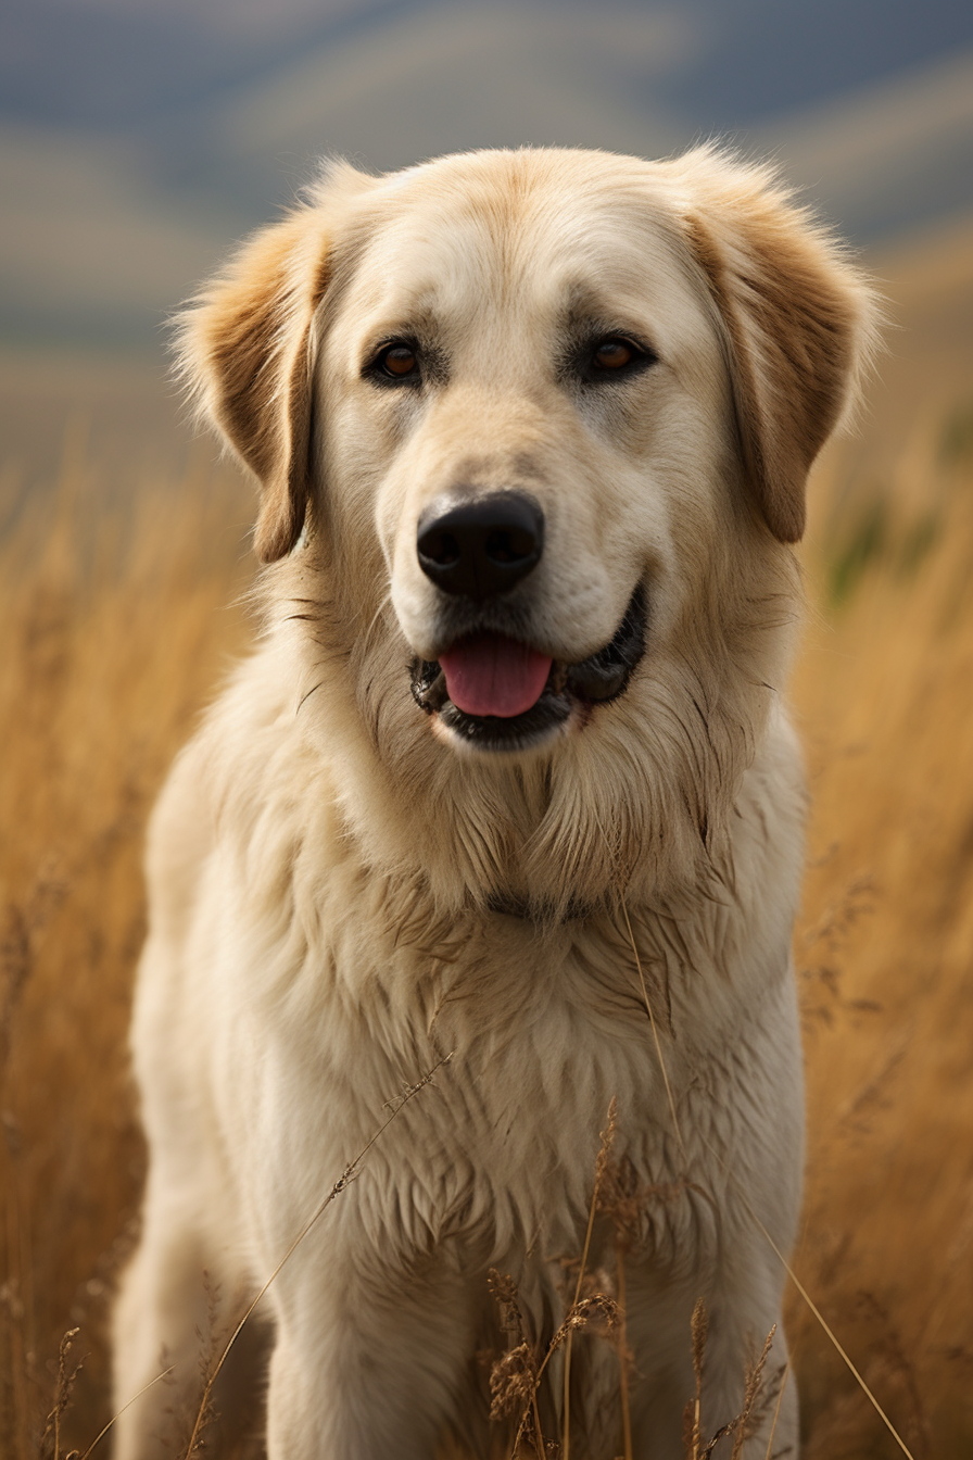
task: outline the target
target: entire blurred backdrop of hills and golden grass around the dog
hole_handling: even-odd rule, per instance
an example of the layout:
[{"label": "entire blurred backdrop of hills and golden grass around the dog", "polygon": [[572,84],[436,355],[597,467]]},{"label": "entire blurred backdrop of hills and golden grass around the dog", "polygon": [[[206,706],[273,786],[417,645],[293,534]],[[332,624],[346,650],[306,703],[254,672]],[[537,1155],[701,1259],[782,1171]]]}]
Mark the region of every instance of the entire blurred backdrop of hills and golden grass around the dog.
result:
[{"label": "entire blurred backdrop of hills and golden grass around the dog", "polygon": [[[0,1460],[86,1453],[109,1418],[106,1314],[144,1165],[124,1047],[144,821],[251,632],[251,489],[181,419],[168,312],[322,152],[385,169],[710,136],[776,158],[887,298],[801,549],[794,1261],[906,1453],[973,1454],[969,3],[7,0]],[[805,1460],[902,1456],[796,1291],[788,1323]]]}]

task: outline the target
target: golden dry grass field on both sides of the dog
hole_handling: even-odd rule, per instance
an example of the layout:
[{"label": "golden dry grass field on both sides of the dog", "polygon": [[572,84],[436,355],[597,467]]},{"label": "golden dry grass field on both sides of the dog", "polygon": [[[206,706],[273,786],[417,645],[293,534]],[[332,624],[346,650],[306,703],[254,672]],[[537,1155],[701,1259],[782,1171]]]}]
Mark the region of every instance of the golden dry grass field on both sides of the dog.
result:
[{"label": "golden dry grass field on both sides of the dog", "polygon": [[[792,685],[813,790],[792,1263],[916,1460],[973,1454],[969,242],[884,270],[902,328],[871,415],[815,473]],[[106,505],[69,432],[60,480],[0,539],[3,1460],[86,1453],[109,1418],[106,1313],[144,1165],[125,1063],[144,822],[249,632],[226,604],[251,575],[251,499],[198,460]],[[902,1454],[795,1289],[789,1333],[807,1460]]]}]

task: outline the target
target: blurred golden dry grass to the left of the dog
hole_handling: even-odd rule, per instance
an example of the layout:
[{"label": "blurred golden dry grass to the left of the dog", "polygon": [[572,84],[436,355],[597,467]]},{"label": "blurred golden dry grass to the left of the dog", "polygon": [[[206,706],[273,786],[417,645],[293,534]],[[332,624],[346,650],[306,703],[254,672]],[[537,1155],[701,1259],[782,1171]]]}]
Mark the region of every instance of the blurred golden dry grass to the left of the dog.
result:
[{"label": "blurred golden dry grass to the left of the dog", "polygon": [[[149,485],[90,520],[63,479],[3,543],[0,575],[0,1454],[38,1453],[60,1339],[89,1353],[61,1431],[105,1406],[105,1294],[143,1174],[125,1060],[144,933],[142,841],[242,615],[245,493]],[[77,1346],[76,1346],[77,1352]]]}]

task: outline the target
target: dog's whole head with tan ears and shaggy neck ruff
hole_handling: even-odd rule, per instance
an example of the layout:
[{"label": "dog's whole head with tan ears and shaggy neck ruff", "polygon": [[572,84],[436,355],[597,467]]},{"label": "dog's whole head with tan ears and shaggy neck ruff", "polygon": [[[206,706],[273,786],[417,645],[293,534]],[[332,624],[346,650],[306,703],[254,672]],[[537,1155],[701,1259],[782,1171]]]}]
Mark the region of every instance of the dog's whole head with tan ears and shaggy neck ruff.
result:
[{"label": "dog's whole head with tan ears and shaggy neck ruff", "polygon": [[785,672],[785,545],[868,321],[840,250],[708,149],[340,165],[251,241],[184,361],[277,596],[327,599],[362,804],[448,793],[477,896],[699,850]]}]

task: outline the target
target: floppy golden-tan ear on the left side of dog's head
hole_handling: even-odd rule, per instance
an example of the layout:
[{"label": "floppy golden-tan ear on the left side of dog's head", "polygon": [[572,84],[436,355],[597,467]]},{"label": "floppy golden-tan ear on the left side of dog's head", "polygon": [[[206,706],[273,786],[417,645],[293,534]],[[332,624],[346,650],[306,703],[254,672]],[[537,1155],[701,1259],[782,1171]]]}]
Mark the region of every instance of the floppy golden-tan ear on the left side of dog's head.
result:
[{"label": "floppy golden-tan ear on the left side of dog's head", "polygon": [[328,283],[336,209],[373,180],[330,168],[282,222],[249,238],[177,320],[181,372],[198,407],[261,486],[261,562],[296,545],[311,489],[314,320]]}]

